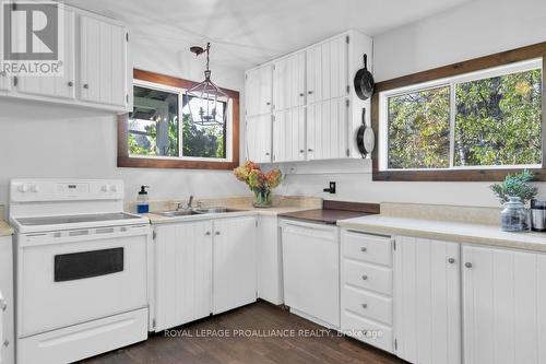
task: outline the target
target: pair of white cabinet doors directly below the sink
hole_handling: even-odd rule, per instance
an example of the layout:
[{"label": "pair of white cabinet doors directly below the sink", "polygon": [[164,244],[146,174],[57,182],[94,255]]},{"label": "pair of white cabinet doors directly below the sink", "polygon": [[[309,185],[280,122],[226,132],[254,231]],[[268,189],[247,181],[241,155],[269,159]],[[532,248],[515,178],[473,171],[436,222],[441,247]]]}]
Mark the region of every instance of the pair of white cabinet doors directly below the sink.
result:
[{"label": "pair of white cabinet doors directly below the sink", "polygon": [[155,331],[257,298],[256,218],[163,224],[155,231]]}]

